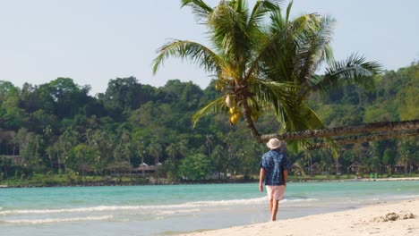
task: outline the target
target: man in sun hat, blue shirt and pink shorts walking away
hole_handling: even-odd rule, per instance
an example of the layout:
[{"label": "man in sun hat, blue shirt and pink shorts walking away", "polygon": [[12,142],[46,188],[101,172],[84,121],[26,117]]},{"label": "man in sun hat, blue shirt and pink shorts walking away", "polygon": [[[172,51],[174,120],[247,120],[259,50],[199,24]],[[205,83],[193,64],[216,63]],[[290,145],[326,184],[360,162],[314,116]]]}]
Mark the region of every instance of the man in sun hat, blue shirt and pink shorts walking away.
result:
[{"label": "man in sun hat, blue shirt and pink shorts walking away", "polygon": [[259,190],[263,191],[265,180],[266,191],[269,198],[271,221],[277,220],[278,202],[286,190],[286,177],[288,175],[289,161],[286,158],[285,143],[279,139],[269,139],[266,144],[269,152],[261,157],[261,173],[259,175]]}]

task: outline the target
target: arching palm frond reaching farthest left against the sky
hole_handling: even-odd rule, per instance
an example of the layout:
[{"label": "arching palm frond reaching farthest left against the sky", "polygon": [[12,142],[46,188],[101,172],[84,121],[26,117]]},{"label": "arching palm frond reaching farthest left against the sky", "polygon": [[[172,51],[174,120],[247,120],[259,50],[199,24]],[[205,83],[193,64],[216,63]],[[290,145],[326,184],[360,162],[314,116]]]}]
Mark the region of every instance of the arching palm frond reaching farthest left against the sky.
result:
[{"label": "arching palm frond reaching farthest left against the sky", "polygon": [[207,72],[218,72],[221,63],[218,55],[206,46],[188,40],[174,40],[158,49],[158,56],[153,62],[153,73],[158,71],[169,56],[189,59]]}]

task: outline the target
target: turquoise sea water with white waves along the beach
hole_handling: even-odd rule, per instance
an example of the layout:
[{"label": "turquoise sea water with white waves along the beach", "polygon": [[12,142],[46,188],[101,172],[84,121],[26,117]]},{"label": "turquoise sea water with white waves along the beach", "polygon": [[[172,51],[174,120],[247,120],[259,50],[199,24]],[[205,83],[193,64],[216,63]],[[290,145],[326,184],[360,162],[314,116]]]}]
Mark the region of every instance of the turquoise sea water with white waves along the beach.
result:
[{"label": "turquoise sea water with white waves along the beach", "polygon": [[[419,198],[419,181],[288,183],[278,219]],[[0,189],[0,235],[175,235],[269,220],[257,183]]]}]

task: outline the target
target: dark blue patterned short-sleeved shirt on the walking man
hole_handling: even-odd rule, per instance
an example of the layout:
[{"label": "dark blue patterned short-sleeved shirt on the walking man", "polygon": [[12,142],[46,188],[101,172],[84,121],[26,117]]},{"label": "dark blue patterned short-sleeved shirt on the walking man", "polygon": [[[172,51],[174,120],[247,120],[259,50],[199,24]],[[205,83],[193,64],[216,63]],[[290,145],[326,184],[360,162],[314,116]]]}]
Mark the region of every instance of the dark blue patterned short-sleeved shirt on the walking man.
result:
[{"label": "dark blue patterned short-sleeved shirt on the walking man", "polygon": [[289,161],[279,149],[269,150],[261,157],[261,168],[265,170],[265,185],[284,185],[284,171],[288,170]]}]

